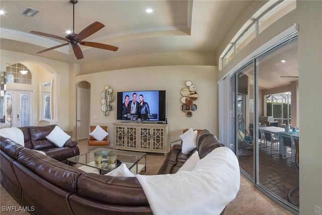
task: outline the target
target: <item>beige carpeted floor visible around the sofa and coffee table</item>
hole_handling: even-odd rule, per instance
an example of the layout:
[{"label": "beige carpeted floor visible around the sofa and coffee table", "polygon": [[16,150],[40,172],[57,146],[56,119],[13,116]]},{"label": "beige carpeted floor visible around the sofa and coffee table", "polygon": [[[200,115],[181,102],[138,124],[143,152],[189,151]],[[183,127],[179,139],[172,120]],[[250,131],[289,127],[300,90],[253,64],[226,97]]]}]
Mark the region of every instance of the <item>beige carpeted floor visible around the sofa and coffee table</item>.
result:
[{"label": "beige carpeted floor visible around the sofa and coffee table", "polygon": [[[88,151],[87,140],[78,141],[78,147],[81,154]],[[91,148],[92,149],[92,148]],[[93,148],[94,149],[94,148]],[[145,175],[157,174],[160,166],[165,160],[164,154],[147,154],[147,168]],[[10,194],[1,186],[0,187],[0,207],[2,208],[0,214],[29,214],[24,211],[3,211],[5,206],[20,206]],[[259,215],[259,214],[292,214],[285,210],[278,204],[271,201],[268,197],[262,194],[260,191],[255,189],[255,187],[249,183],[243,176],[240,176],[240,189],[237,193],[236,198],[231,201],[225,210],[225,215],[235,215],[235,214],[247,214],[247,215]]]}]

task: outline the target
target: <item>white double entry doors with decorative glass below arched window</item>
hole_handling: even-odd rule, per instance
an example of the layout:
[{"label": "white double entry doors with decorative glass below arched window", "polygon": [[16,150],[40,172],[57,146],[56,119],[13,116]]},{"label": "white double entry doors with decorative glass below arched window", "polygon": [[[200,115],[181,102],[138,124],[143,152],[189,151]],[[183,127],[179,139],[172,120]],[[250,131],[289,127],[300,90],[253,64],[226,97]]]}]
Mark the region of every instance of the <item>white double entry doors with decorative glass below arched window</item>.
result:
[{"label": "white double entry doors with decorative glass below arched window", "polygon": [[11,127],[33,125],[33,92],[22,90],[7,90],[5,101],[6,122]]}]

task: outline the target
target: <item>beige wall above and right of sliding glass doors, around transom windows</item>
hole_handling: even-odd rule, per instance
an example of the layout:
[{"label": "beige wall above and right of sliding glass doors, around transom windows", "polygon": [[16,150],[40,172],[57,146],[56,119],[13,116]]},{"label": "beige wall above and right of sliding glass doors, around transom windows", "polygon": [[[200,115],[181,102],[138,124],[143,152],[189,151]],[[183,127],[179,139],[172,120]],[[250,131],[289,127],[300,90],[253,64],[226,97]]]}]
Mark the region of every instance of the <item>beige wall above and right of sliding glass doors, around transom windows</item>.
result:
[{"label": "beige wall above and right of sliding glass doors, around transom windows", "polygon": [[[250,8],[265,3],[260,2],[256,1]],[[240,17],[223,41],[217,56],[220,56],[236,30],[254,12],[248,10],[247,14]],[[300,214],[314,214],[314,206],[322,206],[322,141],[319,135],[322,130],[322,1],[296,1],[296,9],[271,25],[240,51],[219,71],[218,80],[255,49],[294,23],[299,25]]]}]

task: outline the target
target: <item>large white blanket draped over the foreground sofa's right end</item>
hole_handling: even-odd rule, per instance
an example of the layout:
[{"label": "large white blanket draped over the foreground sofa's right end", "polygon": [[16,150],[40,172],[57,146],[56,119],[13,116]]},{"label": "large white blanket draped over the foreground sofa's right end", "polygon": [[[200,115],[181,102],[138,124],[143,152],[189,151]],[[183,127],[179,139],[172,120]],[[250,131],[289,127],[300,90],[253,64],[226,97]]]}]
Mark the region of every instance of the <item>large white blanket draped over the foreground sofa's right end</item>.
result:
[{"label": "large white blanket draped over the foreground sofa's right end", "polygon": [[238,160],[226,147],[213,150],[190,172],[135,177],[154,215],[220,214],[240,185]]}]

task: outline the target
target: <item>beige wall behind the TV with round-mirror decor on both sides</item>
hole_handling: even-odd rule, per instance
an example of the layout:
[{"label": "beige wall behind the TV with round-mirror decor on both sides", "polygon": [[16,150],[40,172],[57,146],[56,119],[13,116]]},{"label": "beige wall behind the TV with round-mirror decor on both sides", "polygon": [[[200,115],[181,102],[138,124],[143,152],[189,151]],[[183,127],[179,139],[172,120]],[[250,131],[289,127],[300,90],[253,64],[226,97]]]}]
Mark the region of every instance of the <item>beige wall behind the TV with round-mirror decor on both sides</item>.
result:
[{"label": "beige wall behind the TV with round-mirror decor on both sides", "polygon": [[[74,66],[71,66],[71,69],[77,74]],[[215,66],[153,66],[75,76],[70,83],[70,92],[73,92],[70,95],[71,98],[76,97],[75,86],[81,81],[91,83],[91,125],[108,125],[112,141],[114,140],[112,123],[118,121],[116,120],[117,92],[135,90],[167,91],[166,116],[169,117],[169,141],[179,139],[182,130],[190,127],[208,129],[218,134],[218,86]],[[197,87],[196,92],[199,94],[198,100],[194,102],[197,110],[193,112],[192,117],[187,117],[180,109],[182,97],[180,91],[186,86],[186,81],[191,81]],[[113,110],[108,116],[104,116],[100,110],[101,92],[105,85],[113,89],[115,97],[111,103]],[[75,110],[75,99],[72,101],[69,108]],[[98,116],[98,119],[93,119],[94,116]],[[75,114],[73,117],[71,123],[75,131]]]}]

